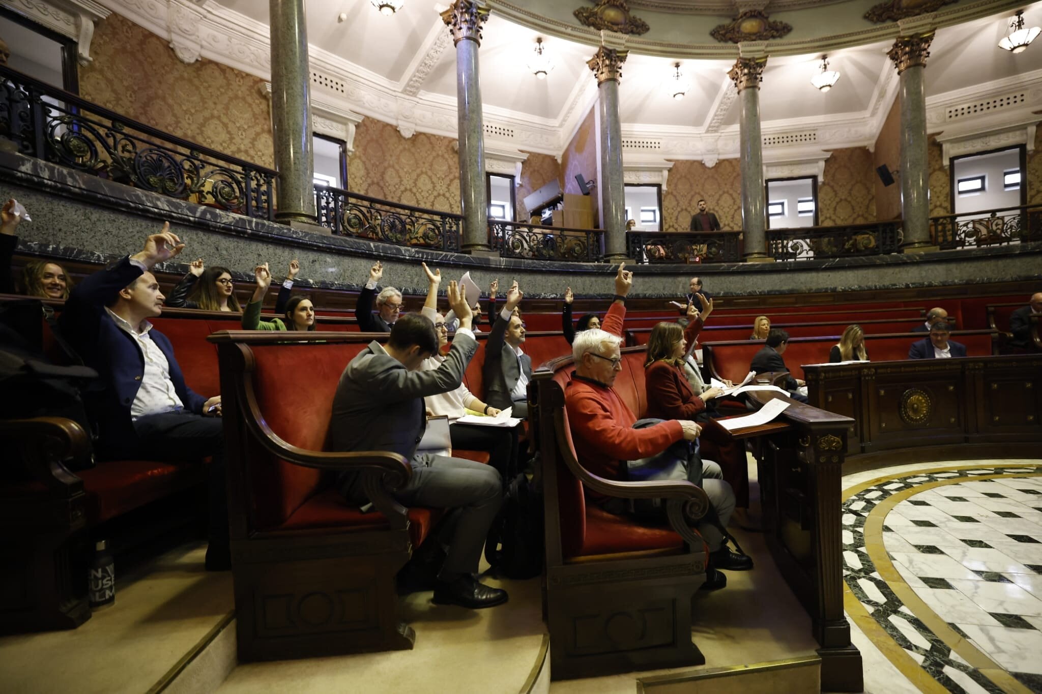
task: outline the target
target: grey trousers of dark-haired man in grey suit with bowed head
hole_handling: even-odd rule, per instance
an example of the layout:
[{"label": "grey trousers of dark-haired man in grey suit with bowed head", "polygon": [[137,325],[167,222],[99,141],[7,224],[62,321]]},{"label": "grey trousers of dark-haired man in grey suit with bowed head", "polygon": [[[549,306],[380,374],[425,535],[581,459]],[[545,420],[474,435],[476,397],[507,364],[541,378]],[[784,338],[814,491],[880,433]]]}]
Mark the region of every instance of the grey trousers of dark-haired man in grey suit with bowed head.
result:
[{"label": "grey trousers of dark-haired man in grey suit with bowed head", "polygon": [[413,460],[413,479],[394,497],[410,507],[451,509],[443,528],[448,556],[441,576],[452,579],[477,572],[485,539],[503,500],[502,489],[499,472],[491,465],[424,455]]}]

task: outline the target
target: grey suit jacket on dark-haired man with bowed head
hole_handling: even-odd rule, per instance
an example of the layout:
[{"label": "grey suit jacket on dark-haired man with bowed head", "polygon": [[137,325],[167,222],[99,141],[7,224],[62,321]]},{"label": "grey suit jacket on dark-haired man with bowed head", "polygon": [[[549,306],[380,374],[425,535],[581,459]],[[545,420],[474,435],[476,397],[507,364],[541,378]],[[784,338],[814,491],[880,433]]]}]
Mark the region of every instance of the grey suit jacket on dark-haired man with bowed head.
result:
[{"label": "grey suit jacket on dark-haired man with bowed head", "polygon": [[329,420],[333,449],[391,451],[413,460],[427,428],[424,396],[458,388],[476,351],[473,337],[456,334],[441,366],[410,371],[371,342],[340,377]]}]

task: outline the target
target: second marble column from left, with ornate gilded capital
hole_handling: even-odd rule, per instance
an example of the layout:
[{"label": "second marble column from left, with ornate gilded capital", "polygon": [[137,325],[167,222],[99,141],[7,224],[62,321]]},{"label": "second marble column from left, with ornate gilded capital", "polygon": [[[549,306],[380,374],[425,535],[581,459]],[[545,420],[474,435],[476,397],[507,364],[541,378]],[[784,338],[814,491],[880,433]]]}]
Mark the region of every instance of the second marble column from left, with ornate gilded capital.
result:
[{"label": "second marble column from left, with ornate gilded capital", "polygon": [[489,201],[485,188],[485,120],[478,83],[477,49],[489,8],[475,0],[455,0],[442,12],[456,49],[456,118],[460,122],[460,204],[463,251],[488,254]]}]

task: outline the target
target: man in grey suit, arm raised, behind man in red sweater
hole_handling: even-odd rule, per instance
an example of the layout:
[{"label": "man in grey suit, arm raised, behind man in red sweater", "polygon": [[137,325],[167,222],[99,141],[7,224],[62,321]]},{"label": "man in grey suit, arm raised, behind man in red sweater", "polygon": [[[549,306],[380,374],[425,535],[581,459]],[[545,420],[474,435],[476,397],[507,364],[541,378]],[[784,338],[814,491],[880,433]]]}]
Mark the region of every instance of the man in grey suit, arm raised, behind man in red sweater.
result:
[{"label": "man in grey suit, arm raised, behind man in red sweater", "polygon": [[524,323],[514,315],[524,292],[517,282],[506,292],[506,306],[499,312],[485,344],[485,402],[505,410],[513,407],[515,417],[528,416],[528,382],[531,381],[531,357],[521,345],[525,339]]}]

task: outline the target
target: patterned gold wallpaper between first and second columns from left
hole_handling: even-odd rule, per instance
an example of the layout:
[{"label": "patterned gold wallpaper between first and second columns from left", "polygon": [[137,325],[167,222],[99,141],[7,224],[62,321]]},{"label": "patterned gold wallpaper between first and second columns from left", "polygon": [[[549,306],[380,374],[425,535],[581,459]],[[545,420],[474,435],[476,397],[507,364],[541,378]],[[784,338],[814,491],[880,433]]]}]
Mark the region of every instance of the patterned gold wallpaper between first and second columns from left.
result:
[{"label": "patterned gold wallpaper between first and second columns from left", "polygon": [[390,123],[364,119],[347,160],[347,185],[365,196],[458,214],[460,155],[453,142],[422,132],[405,139]]}]

